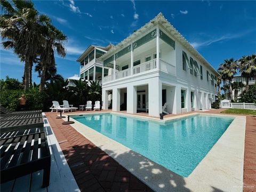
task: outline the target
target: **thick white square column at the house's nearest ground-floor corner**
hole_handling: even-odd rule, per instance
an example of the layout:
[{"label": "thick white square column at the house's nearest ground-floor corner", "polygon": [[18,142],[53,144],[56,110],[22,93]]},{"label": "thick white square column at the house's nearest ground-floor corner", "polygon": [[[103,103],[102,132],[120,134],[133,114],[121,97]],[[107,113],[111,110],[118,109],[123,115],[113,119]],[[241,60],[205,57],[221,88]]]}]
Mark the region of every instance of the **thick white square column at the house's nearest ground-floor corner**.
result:
[{"label": "thick white square column at the house's nearest ground-floor corner", "polygon": [[162,113],[162,83],[158,77],[148,83],[148,115],[159,117]]}]

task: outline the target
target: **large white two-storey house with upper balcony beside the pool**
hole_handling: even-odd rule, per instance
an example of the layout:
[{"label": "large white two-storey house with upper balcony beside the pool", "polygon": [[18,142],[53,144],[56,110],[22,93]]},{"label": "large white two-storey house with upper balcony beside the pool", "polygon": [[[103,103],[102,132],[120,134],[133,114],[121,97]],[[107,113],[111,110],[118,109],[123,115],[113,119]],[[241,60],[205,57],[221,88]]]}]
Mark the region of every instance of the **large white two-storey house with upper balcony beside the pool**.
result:
[{"label": "large white two-storey house with upper balcony beside the pool", "polygon": [[[158,117],[211,108],[217,95],[218,72],[159,13],[145,26],[103,54],[102,108],[146,111]],[[102,70],[103,71],[103,70]]]}]

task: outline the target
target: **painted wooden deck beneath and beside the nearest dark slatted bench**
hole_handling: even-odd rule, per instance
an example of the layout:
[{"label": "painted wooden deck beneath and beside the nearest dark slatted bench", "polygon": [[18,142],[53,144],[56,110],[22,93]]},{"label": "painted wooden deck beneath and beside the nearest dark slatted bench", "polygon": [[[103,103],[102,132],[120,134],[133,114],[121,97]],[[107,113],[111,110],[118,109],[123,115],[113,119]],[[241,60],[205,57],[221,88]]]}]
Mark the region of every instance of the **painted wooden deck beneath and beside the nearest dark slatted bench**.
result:
[{"label": "painted wooden deck beneath and beside the nearest dark slatted bench", "polygon": [[[44,129],[51,153],[50,185],[42,188],[43,170],[27,174],[18,179],[5,182],[1,185],[3,191],[79,191],[73,174],[60,149],[59,143],[52,132],[51,126],[43,114]],[[31,154],[30,154],[31,155]]]}]

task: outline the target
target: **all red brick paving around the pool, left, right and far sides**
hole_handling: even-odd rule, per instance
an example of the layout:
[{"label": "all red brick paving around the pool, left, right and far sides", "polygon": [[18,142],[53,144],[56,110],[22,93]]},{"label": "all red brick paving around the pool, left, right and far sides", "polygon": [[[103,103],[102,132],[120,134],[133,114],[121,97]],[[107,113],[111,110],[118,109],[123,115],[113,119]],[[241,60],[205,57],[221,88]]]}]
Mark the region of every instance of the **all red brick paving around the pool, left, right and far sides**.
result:
[{"label": "all red brick paving around the pool, left, right and far sides", "polygon": [[[222,110],[225,109],[201,113],[220,114]],[[85,111],[77,111],[72,114],[75,113],[85,113]],[[56,119],[56,115],[56,113],[46,113],[63,154],[82,191],[152,191],[73,127],[62,125],[63,120]],[[139,113],[139,115],[148,116],[146,113]],[[253,115],[246,115],[244,191],[256,191],[256,116]]]}]

